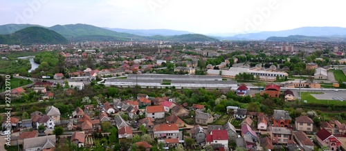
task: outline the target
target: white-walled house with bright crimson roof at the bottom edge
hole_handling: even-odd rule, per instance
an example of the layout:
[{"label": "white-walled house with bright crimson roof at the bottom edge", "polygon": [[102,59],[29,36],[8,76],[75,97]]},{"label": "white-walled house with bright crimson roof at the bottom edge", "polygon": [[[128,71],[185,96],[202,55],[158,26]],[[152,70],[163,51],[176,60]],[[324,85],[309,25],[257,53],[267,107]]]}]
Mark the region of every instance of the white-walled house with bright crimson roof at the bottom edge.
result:
[{"label": "white-walled house with bright crimson roof at the bottom edge", "polygon": [[228,147],[228,135],[226,130],[212,130],[210,134],[206,136],[206,144],[221,144],[224,147]]}]

